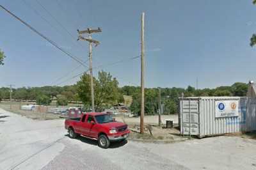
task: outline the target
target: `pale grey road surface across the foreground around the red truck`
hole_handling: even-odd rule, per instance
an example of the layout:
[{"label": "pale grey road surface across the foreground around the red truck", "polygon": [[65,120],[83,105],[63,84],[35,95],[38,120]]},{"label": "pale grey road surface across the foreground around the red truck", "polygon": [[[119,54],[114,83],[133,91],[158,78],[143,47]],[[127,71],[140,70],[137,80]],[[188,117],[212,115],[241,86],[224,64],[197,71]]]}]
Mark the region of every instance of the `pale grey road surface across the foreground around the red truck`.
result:
[{"label": "pale grey road surface across the foreground around the red truck", "polygon": [[70,139],[63,120],[36,121],[0,109],[0,169],[256,169],[256,141],[210,137],[175,144]]}]

